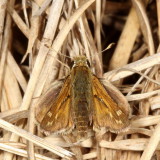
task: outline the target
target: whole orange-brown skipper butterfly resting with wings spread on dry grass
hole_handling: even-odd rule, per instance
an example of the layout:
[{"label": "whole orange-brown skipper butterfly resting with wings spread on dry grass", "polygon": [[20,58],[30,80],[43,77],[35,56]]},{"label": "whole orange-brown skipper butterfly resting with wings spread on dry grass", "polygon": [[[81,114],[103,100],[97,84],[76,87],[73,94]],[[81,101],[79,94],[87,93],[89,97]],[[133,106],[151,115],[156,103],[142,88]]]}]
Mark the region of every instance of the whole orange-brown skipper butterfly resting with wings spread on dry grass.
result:
[{"label": "whole orange-brown skipper butterfly resting with wings spread on dry grass", "polygon": [[121,92],[98,79],[88,67],[86,57],[80,56],[74,58],[74,66],[64,81],[51,86],[40,98],[36,120],[44,131],[76,131],[77,139],[84,139],[89,128],[122,131],[129,125],[129,112]]}]

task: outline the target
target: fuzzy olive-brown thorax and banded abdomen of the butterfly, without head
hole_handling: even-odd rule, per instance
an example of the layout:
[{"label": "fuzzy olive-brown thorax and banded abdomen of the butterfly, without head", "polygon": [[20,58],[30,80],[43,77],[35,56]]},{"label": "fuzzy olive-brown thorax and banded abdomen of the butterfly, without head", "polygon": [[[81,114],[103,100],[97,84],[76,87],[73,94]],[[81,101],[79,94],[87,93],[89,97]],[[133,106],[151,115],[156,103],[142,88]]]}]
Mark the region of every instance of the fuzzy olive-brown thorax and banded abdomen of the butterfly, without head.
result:
[{"label": "fuzzy olive-brown thorax and banded abdomen of the butterfly, without head", "polygon": [[87,136],[92,102],[91,71],[87,65],[76,64],[71,71],[71,108],[77,139]]}]

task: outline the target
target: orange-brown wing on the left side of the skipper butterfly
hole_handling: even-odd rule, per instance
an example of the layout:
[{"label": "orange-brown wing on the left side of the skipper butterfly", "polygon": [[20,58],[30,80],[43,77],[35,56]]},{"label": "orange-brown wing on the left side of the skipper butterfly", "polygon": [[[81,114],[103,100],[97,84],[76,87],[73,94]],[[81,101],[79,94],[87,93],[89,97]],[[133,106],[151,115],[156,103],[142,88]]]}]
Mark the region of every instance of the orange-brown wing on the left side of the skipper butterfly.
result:
[{"label": "orange-brown wing on the left side of the skipper butterfly", "polygon": [[[45,107],[42,107],[43,109],[40,110],[36,116],[40,127],[44,131],[62,133],[69,132],[74,127],[70,114],[70,85],[70,76],[68,76],[56,99],[53,99],[53,101],[50,100],[49,103],[45,103],[43,99],[42,103],[39,104],[49,108],[46,111],[44,109]],[[51,95],[51,93],[48,93],[48,95]],[[47,101],[47,96],[45,97]],[[50,99],[50,97],[48,97],[48,99]],[[48,104],[48,106],[46,106],[46,104]]]}]

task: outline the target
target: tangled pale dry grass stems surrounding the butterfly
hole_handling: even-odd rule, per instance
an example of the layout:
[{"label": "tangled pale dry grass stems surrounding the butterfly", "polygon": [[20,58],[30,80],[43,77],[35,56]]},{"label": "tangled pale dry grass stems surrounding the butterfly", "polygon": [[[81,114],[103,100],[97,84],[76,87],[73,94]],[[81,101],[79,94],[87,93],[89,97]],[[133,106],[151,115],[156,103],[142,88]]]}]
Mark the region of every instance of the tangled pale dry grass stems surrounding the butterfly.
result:
[{"label": "tangled pale dry grass stems surrounding the butterfly", "polygon": [[[160,159],[159,0],[0,0],[0,33],[0,159]],[[73,145],[44,136],[34,107],[79,54],[126,96],[131,125]]]}]

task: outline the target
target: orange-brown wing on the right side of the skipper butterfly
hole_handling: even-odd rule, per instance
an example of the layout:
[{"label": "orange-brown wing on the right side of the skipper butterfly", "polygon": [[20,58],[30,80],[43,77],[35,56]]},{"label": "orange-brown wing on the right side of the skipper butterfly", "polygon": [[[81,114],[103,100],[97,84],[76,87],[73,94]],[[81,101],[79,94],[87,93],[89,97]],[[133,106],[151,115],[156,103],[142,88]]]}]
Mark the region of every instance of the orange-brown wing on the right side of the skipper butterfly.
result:
[{"label": "orange-brown wing on the right side of the skipper butterfly", "polygon": [[129,125],[128,113],[107,93],[104,86],[95,76],[93,78],[93,127],[106,127],[112,132],[121,131]]}]

